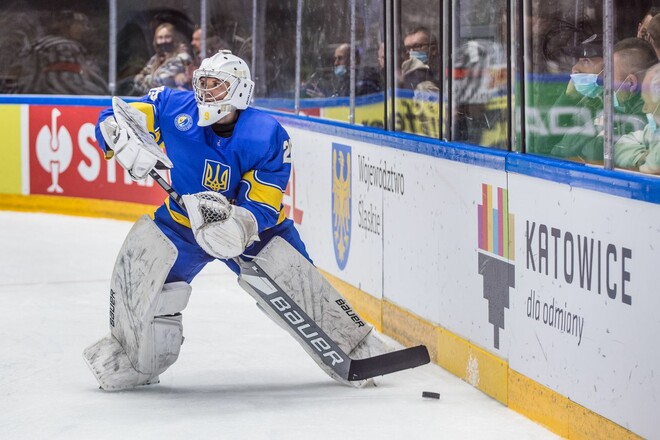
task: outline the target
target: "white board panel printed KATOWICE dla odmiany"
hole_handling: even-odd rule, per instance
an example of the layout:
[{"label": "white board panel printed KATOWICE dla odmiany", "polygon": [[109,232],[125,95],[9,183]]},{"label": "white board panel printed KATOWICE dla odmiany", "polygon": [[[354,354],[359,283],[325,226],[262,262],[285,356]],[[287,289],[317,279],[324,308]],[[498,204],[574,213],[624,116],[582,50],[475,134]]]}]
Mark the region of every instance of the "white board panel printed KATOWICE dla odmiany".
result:
[{"label": "white board panel printed KATOWICE dla odmiany", "polygon": [[657,436],[660,206],[515,174],[509,190],[518,256],[510,367]]}]

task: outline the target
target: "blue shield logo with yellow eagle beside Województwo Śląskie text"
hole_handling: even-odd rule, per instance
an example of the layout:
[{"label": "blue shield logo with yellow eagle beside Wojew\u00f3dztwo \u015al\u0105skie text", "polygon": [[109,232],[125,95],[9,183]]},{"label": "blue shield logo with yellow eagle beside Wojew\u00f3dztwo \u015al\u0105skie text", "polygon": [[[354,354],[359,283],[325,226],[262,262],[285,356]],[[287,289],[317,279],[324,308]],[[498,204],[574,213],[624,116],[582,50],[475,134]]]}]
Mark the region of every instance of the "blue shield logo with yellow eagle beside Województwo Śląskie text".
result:
[{"label": "blue shield logo with yellow eagle beside Wojew\u00f3dztwo \u015al\u0105skie text", "polygon": [[351,248],[351,160],[351,147],[332,143],[332,242],[342,270]]}]

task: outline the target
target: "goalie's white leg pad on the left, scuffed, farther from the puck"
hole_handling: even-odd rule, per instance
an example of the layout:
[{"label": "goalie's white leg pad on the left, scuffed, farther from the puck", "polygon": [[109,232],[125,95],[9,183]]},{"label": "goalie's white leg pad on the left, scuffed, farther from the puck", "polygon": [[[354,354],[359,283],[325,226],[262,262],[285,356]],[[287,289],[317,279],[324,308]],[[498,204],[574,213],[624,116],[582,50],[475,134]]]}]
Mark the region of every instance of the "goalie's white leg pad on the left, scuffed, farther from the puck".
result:
[{"label": "goalie's white leg pad on the left, scuffed, farther from the puck", "polygon": [[181,312],[191,288],[163,285],[177,250],[147,216],[129,232],[115,264],[110,291],[110,335],[83,357],[101,388],[121,390],[154,383],[179,356]]}]

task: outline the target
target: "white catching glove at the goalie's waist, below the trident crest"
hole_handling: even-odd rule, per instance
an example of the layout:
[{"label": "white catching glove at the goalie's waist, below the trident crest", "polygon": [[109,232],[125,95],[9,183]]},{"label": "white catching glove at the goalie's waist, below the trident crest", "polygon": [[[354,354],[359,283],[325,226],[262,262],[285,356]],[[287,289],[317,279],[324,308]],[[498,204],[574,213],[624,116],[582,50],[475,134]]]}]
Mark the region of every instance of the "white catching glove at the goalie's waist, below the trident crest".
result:
[{"label": "white catching glove at the goalie's waist, below the trident crest", "polygon": [[230,259],[259,240],[257,219],[220,193],[206,191],[183,196],[195,240],[209,255]]}]

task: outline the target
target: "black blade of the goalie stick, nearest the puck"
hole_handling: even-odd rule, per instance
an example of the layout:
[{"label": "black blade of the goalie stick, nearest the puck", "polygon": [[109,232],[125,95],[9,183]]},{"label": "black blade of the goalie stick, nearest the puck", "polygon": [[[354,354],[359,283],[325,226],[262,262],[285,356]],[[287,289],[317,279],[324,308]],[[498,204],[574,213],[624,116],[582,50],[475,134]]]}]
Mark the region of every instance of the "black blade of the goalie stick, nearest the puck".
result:
[{"label": "black blade of the goalie stick, nearest the puck", "polygon": [[350,381],[369,379],[419,367],[429,362],[431,357],[428,349],[425,345],[418,345],[366,359],[353,359],[347,379]]}]

